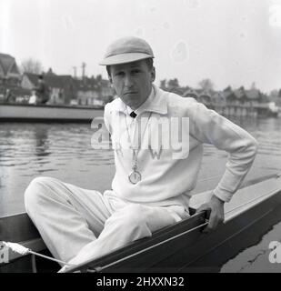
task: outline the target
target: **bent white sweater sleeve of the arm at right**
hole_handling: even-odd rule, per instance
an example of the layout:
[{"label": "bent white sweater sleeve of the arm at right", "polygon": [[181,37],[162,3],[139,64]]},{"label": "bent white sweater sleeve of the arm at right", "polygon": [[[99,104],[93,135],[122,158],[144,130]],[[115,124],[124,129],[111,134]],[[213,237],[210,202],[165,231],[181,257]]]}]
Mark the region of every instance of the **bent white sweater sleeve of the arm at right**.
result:
[{"label": "bent white sweater sleeve of the arm at right", "polygon": [[212,144],[229,154],[225,174],[214,190],[218,198],[228,202],[254,162],[256,139],[203,104],[196,103],[190,110],[190,134],[202,143]]}]

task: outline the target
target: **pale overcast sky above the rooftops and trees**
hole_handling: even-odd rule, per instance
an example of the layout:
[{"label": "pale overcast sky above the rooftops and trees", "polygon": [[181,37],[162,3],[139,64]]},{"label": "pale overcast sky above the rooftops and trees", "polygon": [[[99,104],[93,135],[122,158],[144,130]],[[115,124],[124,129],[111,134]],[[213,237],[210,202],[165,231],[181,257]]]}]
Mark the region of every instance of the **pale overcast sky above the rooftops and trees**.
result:
[{"label": "pale overcast sky above the rooftops and trees", "polygon": [[116,38],[145,38],[156,84],[281,88],[281,0],[0,0],[0,52],[59,75],[102,74]]}]

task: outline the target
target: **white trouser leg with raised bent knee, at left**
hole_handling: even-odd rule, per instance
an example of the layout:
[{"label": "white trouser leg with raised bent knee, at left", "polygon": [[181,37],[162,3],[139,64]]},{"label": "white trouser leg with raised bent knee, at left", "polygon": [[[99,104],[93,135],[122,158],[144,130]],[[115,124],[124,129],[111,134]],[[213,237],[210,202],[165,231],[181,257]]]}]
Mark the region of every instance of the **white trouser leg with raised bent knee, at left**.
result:
[{"label": "white trouser leg with raised bent knee, at left", "polygon": [[53,256],[66,262],[99,236],[110,216],[99,192],[51,177],[30,183],[25,208]]}]

